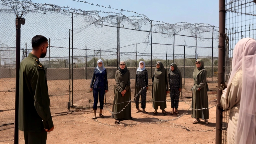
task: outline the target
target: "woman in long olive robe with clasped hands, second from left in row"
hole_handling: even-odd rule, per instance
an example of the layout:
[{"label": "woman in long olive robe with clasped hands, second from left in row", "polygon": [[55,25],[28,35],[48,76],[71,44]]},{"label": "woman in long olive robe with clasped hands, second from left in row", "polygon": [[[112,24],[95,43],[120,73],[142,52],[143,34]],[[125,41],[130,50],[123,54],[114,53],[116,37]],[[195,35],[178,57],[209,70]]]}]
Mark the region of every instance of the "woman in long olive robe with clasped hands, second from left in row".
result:
[{"label": "woman in long olive robe with clasped hands, second from left in row", "polygon": [[129,102],[131,100],[130,71],[127,69],[124,61],[120,61],[120,67],[115,73],[115,81],[116,88],[114,90],[115,97],[112,112],[117,113],[121,110],[123,111],[116,115],[112,114],[112,118],[116,119],[115,124],[119,124],[121,119],[132,119],[132,106],[131,102]]}]

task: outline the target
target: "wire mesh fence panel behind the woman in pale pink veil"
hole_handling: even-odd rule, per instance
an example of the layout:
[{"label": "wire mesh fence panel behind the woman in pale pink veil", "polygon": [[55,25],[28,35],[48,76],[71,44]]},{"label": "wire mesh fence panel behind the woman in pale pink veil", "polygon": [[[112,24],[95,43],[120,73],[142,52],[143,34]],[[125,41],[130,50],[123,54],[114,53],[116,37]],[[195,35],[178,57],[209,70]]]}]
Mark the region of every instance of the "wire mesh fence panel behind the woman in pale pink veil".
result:
[{"label": "wire mesh fence panel behind the woman in pale pink veil", "polygon": [[[256,4],[253,0],[226,0],[226,54],[225,80],[231,71],[233,49],[236,43],[246,37],[256,39]],[[222,143],[227,143],[229,111],[222,119]]]}]

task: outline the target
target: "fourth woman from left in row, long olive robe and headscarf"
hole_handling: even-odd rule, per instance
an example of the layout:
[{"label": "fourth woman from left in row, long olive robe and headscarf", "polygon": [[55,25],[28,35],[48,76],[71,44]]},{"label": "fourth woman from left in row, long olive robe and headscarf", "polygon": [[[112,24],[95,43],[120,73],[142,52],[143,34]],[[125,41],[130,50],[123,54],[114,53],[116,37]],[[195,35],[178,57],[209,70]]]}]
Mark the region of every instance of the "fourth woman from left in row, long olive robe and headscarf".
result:
[{"label": "fourth woman from left in row, long olive robe and headscarf", "polygon": [[154,114],[157,114],[158,106],[160,106],[162,113],[165,115],[167,114],[164,110],[166,108],[166,95],[170,91],[168,88],[167,72],[161,61],[157,61],[152,81],[153,108],[155,109]]}]

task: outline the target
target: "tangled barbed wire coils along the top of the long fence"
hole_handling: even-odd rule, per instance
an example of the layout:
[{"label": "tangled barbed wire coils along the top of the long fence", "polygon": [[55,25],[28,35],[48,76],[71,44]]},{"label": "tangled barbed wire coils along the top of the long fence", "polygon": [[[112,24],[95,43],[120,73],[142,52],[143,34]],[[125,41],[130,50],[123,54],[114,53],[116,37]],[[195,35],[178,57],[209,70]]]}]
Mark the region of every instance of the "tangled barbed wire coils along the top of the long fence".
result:
[{"label": "tangled barbed wire coils along the top of the long fence", "polygon": [[[63,15],[71,15],[71,13],[75,15],[82,15],[84,18],[84,22],[88,23],[85,27],[89,25],[97,25],[97,26],[117,26],[118,22],[121,23],[121,28],[130,28],[127,24],[132,25],[131,29],[133,30],[143,30],[145,29],[146,32],[154,32],[154,33],[161,33],[164,35],[170,35],[170,37],[175,35],[186,35],[189,37],[196,37],[198,39],[205,39],[203,33],[212,32],[214,26],[210,24],[191,24],[191,23],[176,23],[176,24],[169,24],[165,22],[159,22],[156,20],[150,20],[144,14],[138,14],[133,11],[128,11],[124,9],[116,9],[112,8],[111,6],[103,6],[100,4],[92,4],[86,1],[79,1],[79,0],[72,0],[80,3],[90,4],[94,6],[109,8],[115,10],[117,12],[102,12],[97,10],[89,10],[85,11],[82,9],[76,9],[69,6],[57,6],[54,4],[38,4],[33,3],[31,0],[1,0],[1,9],[0,12],[3,13],[14,13],[16,17],[25,17],[27,14],[31,13],[40,13],[40,14],[52,14],[52,13],[59,13]],[[129,14],[125,14],[129,13]],[[133,14],[133,15],[131,15]],[[129,16],[126,16],[129,15]],[[127,23],[127,24],[125,24]],[[122,27],[123,25],[123,27]],[[153,25],[153,29],[151,29],[151,25]],[[81,27],[80,29],[83,29]],[[214,27],[214,32],[216,36],[214,38],[218,39],[218,28]],[[184,32],[186,29],[187,32]],[[65,39],[65,38],[62,38]],[[55,40],[55,39],[52,39]]]}]

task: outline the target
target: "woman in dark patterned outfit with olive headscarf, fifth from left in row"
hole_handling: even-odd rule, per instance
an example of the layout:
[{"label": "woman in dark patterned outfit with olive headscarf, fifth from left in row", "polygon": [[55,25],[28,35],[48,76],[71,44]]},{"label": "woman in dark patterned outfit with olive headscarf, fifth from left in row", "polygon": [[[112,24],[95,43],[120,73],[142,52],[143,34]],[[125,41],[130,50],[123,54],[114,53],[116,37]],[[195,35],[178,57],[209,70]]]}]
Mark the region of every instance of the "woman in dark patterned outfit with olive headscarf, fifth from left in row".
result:
[{"label": "woman in dark patterned outfit with olive headscarf, fifth from left in row", "polygon": [[168,72],[168,80],[170,86],[171,107],[173,108],[173,111],[170,114],[173,115],[175,112],[175,114],[178,115],[179,93],[181,91],[180,89],[182,88],[182,77],[175,63],[172,63],[170,65],[170,69]]}]

